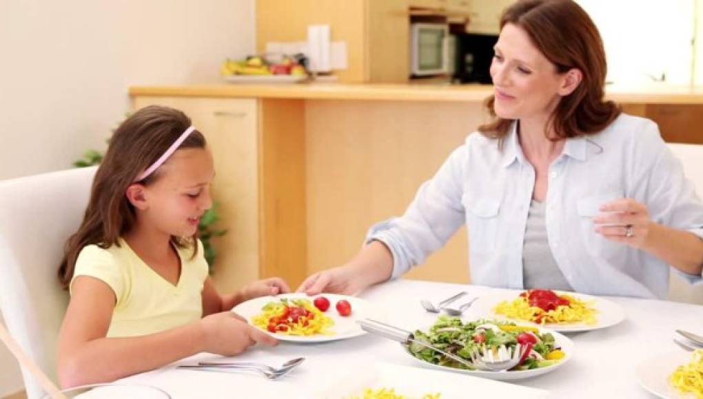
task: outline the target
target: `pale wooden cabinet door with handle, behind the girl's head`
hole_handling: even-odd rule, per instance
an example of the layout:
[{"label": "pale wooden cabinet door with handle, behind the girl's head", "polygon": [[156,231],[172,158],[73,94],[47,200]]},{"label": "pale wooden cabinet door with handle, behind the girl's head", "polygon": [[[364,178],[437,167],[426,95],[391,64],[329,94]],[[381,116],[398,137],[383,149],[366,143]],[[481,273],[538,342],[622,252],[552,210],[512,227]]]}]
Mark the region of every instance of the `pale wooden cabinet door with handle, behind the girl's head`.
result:
[{"label": "pale wooden cabinet door with handle, behind the girl's head", "polygon": [[150,104],[181,109],[212,151],[216,175],[212,196],[219,202],[213,238],[217,248],[213,278],[221,292],[231,292],[259,278],[259,181],[257,100],[186,97],[136,97],[134,108]]}]

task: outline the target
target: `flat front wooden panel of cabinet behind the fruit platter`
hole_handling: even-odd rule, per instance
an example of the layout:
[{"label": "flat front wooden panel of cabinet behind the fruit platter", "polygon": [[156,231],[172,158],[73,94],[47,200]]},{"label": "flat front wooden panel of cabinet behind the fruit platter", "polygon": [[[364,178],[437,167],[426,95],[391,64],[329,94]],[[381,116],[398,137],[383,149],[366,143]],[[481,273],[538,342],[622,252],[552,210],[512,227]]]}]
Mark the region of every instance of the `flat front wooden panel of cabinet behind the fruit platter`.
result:
[{"label": "flat front wooden panel of cabinet behind the fruit platter", "polygon": [[328,24],[332,41],[347,42],[349,68],[335,71],[340,82],[364,81],[364,0],[257,0],[257,51],[269,41],[307,41],[307,26]]}]

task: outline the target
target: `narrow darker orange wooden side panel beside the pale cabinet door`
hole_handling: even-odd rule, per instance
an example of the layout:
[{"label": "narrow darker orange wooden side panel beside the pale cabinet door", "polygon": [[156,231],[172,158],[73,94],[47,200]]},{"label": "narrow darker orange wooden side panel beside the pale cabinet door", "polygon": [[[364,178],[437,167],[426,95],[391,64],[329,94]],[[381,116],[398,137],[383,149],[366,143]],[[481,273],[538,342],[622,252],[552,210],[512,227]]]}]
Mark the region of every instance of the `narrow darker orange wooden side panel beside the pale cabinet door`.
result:
[{"label": "narrow darker orange wooden side panel beside the pale cabinet door", "polygon": [[307,275],[303,100],[260,100],[261,276]]}]

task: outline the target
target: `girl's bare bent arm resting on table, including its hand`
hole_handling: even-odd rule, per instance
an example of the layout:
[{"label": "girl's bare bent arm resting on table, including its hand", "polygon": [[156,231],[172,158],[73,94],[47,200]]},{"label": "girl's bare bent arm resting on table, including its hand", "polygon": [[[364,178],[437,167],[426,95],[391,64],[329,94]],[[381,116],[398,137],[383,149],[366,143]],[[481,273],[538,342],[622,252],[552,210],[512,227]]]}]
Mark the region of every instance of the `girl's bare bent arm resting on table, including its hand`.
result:
[{"label": "girl's bare bent arm resting on table, including its hand", "polygon": [[61,386],[114,381],[202,351],[232,356],[255,342],[276,344],[231,312],[141,337],[106,338],[114,308],[115,294],[103,281],[73,282],[58,343]]}]

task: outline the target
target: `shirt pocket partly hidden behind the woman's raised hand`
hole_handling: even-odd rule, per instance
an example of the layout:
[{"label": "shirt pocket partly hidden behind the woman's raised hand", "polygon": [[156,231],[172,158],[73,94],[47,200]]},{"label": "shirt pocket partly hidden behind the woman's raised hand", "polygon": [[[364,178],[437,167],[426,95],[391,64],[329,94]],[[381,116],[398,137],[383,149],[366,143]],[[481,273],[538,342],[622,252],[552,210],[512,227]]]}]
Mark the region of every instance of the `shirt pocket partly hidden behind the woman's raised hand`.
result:
[{"label": "shirt pocket partly hidden behind the woman's raised hand", "polygon": [[624,253],[626,245],[608,240],[595,231],[593,223],[593,218],[601,213],[601,205],[622,198],[624,198],[623,190],[612,190],[587,196],[576,202],[583,245],[591,256],[612,261]]}]

